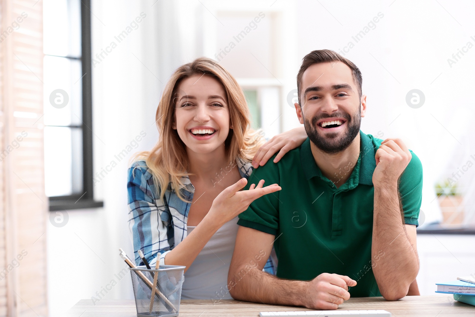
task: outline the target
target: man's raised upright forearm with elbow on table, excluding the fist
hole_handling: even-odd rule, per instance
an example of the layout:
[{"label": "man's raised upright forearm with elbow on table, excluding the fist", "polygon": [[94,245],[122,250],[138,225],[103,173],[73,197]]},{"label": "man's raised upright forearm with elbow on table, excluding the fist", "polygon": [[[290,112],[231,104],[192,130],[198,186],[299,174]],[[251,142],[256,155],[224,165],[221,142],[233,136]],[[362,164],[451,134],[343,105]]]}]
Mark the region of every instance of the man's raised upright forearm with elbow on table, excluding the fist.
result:
[{"label": "man's raised upright forearm with elbow on table, excluding the fist", "polygon": [[396,184],[374,188],[371,256],[374,277],[384,298],[404,297],[417,276],[419,261],[406,232]]}]

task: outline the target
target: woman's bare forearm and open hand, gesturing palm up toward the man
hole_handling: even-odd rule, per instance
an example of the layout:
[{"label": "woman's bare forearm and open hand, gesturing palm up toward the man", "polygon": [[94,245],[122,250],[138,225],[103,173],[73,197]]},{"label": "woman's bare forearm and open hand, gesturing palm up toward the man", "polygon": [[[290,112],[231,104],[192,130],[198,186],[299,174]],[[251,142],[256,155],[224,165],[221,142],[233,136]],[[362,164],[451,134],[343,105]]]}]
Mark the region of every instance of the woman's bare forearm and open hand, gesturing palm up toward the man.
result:
[{"label": "woman's bare forearm and open hand, gesturing palm up toward the man", "polygon": [[173,250],[167,252],[164,263],[166,265],[186,266],[186,271],[209,239],[224,223],[245,211],[255,199],[271,192],[280,191],[281,189],[277,184],[263,187],[264,181],[261,180],[257,187],[252,184],[249,190],[240,191],[246,184],[247,179],[241,178],[237,183],[220,192],[214,199],[206,216],[191,231],[191,234],[183,239]]}]

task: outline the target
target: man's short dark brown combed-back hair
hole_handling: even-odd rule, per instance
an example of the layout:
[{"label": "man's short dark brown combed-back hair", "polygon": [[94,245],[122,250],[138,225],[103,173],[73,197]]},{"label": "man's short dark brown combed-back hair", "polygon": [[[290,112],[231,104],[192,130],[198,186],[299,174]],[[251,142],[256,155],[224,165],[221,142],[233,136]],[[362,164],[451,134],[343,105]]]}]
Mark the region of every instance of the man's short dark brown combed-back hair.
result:
[{"label": "man's short dark brown combed-back hair", "polygon": [[311,51],[310,53],[305,55],[304,58],[302,58],[302,66],[300,66],[300,69],[297,74],[297,96],[298,103],[300,106],[302,106],[302,104],[300,103],[300,88],[302,86],[302,76],[304,75],[304,71],[314,64],[338,61],[345,63],[352,70],[353,80],[358,86],[358,94],[360,95],[361,99],[361,96],[363,96],[361,91],[361,86],[363,85],[363,78],[361,77],[360,68],[353,64],[352,61],[342,57],[340,54],[331,49],[319,49]]}]

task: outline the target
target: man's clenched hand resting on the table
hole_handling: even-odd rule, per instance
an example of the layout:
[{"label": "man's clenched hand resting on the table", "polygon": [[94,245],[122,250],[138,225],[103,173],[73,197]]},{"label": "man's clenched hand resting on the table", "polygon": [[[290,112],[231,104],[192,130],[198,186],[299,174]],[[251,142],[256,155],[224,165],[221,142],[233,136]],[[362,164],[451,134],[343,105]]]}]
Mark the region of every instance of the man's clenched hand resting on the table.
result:
[{"label": "man's clenched hand resting on the table", "polygon": [[348,286],[355,285],[356,281],[347,276],[322,273],[308,282],[303,304],[312,309],[337,309],[350,299]]}]

